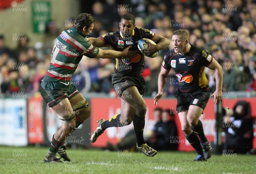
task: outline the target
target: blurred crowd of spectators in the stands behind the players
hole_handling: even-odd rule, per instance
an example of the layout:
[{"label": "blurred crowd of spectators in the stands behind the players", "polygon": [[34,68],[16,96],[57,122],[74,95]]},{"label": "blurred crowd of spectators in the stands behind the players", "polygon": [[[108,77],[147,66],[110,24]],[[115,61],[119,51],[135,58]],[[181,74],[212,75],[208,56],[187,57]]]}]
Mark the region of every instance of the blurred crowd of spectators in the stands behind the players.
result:
[{"label": "blurred crowd of spectators in the stands behind the players", "polygon": [[[92,6],[95,18],[93,32],[99,37],[119,30],[120,17],[134,14],[138,28],[147,28],[172,40],[172,33],[182,28],[189,32],[189,43],[206,49],[223,67],[224,91],[256,91],[256,0],[102,0]],[[17,39],[17,47],[9,49],[0,33],[1,95],[13,92],[37,93],[51,59],[55,38],[62,30],[72,27],[73,18],[59,29],[58,21],[47,23],[44,39],[29,46],[29,36]],[[172,42],[169,49],[172,49]],[[106,48],[110,49],[110,48]],[[145,96],[157,92],[157,77],[163,56],[145,57],[143,76],[147,83]],[[115,59],[82,58],[72,81],[81,92],[113,94],[111,73]],[[215,90],[214,71],[207,69],[209,87]],[[174,71],[167,78],[164,96],[177,90]]]}]

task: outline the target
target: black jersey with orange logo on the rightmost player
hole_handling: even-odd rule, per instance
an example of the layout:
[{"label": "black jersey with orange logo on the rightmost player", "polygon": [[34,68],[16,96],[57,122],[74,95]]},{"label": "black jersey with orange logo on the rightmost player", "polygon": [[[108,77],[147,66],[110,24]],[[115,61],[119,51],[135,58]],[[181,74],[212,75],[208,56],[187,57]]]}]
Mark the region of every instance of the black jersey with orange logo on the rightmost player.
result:
[{"label": "black jersey with orange logo on the rightmost player", "polygon": [[195,91],[209,91],[204,68],[212,62],[212,56],[207,51],[189,45],[185,54],[178,54],[170,50],[163,58],[162,66],[166,70],[173,70],[179,81],[179,90],[182,93]]}]

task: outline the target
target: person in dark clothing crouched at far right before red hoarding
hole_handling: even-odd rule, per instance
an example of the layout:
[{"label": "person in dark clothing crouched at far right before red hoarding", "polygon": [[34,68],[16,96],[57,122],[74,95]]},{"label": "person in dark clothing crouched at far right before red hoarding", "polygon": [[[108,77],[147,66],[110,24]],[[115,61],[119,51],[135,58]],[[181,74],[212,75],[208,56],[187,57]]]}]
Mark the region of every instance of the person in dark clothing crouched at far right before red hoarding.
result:
[{"label": "person in dark clothing crouched at far right before red hoarding", "polygon": [[250,103],[239,101],[233,108],[232,115],[223,117],[223,128],[226,131],[224,150],[226,153],[245,154],[253,145],[253,119]]}]

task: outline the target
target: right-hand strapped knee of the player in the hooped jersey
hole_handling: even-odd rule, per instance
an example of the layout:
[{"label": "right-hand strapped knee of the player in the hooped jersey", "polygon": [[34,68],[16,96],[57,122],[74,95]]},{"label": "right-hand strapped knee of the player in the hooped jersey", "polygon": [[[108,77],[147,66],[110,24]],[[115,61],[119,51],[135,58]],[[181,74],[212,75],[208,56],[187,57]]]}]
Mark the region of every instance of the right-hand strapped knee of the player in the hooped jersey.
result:
[{"label": "right-hand strapped knee of the player in the hooped jersey", "polygon": [[87,100],[82,100],[73,106],[73,110],[76,115],[79,116],[83,121],[90,117],[91,108]]}]

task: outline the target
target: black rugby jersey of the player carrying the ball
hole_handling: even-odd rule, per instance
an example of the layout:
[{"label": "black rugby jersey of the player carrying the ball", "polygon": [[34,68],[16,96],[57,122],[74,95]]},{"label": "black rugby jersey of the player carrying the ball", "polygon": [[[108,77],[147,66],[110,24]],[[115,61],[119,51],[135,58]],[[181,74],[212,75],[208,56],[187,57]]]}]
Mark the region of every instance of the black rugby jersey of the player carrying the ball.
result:
[{"label": "black rugby jersey of the player carrying the ball", "polygon": [[131,37],[123,37],[120,31],[109,32],[101,36],[107,45],[116,51],[122,51],[128,46],[132,46],[131,50],[138,50],[138,54],[131,58],[120,57],[116,58],[116,71],[124,76],[141,75],[144,70],[144,55],[138,49],[138,41],[142,38],[152,39],[155,33],[148,29],[134,28]]}]

